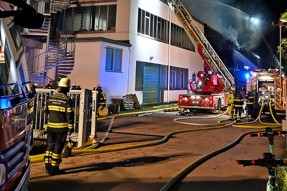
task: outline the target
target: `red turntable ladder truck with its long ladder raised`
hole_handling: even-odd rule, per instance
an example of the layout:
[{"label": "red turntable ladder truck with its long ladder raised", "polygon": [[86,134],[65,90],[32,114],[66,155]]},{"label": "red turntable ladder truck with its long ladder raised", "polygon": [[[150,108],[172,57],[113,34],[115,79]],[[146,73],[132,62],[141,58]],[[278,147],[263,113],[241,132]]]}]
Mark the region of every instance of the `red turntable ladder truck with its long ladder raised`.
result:
[{"label": "red turntable ladder truck with its long ladder raised", "polygon": [[[182,24],[187,35],[204,61],[207,71],[198,71],[195,79],[189,80],[193,94],[180,94],[178,107],[188,109],[217,109],[227,106],[227,92],[234,87],[234,77],[216,54],[196,22],[179,0],[167,0],[171,10]],[[206,80],[209,78],[209,80]]]}]

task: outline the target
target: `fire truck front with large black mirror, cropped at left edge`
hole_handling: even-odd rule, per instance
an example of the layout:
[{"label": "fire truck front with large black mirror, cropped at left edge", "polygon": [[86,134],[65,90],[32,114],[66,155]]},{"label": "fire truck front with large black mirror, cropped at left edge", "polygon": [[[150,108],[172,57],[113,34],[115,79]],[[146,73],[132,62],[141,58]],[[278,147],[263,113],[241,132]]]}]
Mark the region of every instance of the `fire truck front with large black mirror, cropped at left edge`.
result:
[{"label": "fire truck front with large black mirror, cropped at left edge", "polygon": [[[27,190],[34,93],[16,23],[40,28],[37,21],[44,16],[32,20],[36,15],[32,7],[20,0],[4,1],[0,1],[0,190]],[[10,3],[22,9],[12,11]]]}]

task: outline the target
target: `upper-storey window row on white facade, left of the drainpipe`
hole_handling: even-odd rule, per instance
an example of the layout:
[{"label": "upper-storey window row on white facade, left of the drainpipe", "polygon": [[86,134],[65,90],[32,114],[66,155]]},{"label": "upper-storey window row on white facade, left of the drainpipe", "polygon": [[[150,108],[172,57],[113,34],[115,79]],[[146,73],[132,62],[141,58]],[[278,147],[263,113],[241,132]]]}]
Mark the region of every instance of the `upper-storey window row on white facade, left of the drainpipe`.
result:
[{"label": "upper-storey window row on white facade, left of the drainpipe", "polygon": [[143,36],[168,42],[169,22],[139,8],[138,33]]}]

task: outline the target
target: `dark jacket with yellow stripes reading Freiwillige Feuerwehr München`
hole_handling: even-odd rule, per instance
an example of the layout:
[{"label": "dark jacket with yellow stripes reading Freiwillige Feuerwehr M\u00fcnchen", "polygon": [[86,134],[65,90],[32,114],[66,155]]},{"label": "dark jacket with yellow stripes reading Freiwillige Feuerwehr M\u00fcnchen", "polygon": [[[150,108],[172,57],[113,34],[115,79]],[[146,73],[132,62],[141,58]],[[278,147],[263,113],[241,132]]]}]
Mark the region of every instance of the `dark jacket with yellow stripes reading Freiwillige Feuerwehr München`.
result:
[{"label": "dark jacket with yellow stripes reading Freiwillige Feuerwehr M\u00fcnchen", "polygon": [[49,114],[48,131],[53,133],[73,133],[74,127],[74,107],[72,99],[64,93],[51,95],[45,106],[45,113]]}]

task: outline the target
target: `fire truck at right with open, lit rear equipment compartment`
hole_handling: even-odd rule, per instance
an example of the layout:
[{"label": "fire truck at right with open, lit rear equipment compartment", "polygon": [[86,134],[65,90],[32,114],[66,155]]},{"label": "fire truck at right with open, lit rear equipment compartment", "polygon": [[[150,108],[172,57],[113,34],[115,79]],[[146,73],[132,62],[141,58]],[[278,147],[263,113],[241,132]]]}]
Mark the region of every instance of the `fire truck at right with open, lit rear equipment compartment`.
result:
[{"label": "fire truck at right with open, lit rear equipment compartment", "polygon": [[273,114],[285,116],[286,78],[284,77],[286,74],[281,74],[281,79],[278,69],[252,69],[250,74],[246,88],[255,93],[254,113],[257,113],[258,108],[264,104],[262,114],[271,114],[271,106]]}]

